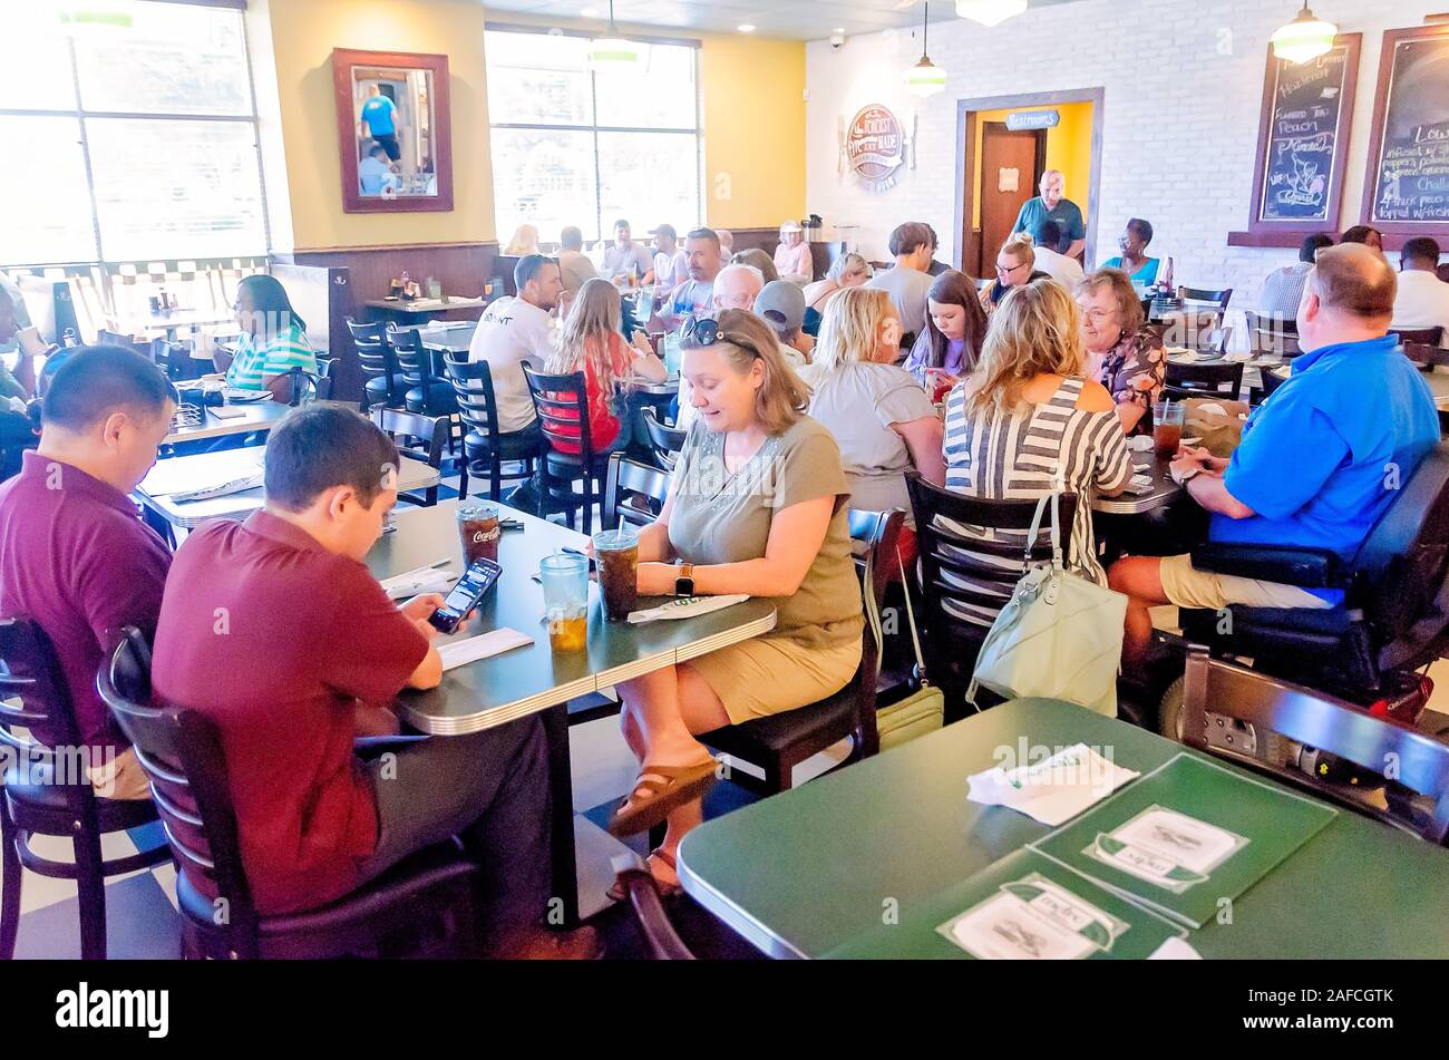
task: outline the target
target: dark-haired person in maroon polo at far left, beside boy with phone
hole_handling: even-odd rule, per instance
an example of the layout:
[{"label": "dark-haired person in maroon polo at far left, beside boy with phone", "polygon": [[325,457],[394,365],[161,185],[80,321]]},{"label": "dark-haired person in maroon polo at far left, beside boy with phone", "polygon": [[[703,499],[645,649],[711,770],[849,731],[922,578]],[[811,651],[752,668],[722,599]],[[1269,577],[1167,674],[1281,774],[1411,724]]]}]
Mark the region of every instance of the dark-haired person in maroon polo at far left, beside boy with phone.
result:
[{"label": "dark-haired person in maroon polo at far left, beside boy with phone", "polygon": [[[128,494],[156,462],[175,388],[119,346],[71,353],[51,379],[41,445],[0,485],[0,615],[49,637],[90,756],[96,792],[148,798],[146,778],[96,692],[96,672],[123,626],[149,634],[171,552]],[[55,734],[35,737],[54,746]]]}]

